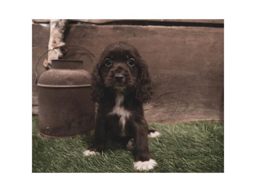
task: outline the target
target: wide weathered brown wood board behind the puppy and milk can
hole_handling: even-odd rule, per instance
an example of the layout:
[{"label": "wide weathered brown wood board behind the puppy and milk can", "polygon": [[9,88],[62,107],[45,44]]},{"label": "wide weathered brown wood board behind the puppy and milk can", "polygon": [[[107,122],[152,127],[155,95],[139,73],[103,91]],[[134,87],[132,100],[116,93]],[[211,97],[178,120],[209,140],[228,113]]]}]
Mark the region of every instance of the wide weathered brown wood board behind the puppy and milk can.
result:
[{"label": "wide weathered brown wood board behind the puppy and milk can", "polygon": [[[33,24],[32,34],[34,70],[47,50],[49,26]],[[154,91],[145,105],[148,122],[224,120],[224,28],[70,24],[65,35],[66,44],[84,46],[96,57],[113,41],[133,44],[148,62]],[[78,49],[68,49],[66,58],[84,60],[90,72],[96,62]],[[32,78],[36,109],[34,72]]]}]

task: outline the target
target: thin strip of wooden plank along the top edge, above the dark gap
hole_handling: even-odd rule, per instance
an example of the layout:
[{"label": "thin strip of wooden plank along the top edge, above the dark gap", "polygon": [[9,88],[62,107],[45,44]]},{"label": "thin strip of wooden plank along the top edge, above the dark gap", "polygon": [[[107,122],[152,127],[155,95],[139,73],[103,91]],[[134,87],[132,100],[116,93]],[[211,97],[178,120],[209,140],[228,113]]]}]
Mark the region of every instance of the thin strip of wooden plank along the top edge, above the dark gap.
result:
[{"label": "thin strip of wooden plank along the top edge, above the dark gap", "polygon": [[[113,21],[123,21],[127,19],[70,19],[72,21],[103,24]],[[131,19],[132,20],[132,19]],[[189,23],[224,23],[224,19],[136,19],[144,21],[164,21],[164,22],[189,22]],[[49,19],[33,19],[34,23],[49,23]]]}]

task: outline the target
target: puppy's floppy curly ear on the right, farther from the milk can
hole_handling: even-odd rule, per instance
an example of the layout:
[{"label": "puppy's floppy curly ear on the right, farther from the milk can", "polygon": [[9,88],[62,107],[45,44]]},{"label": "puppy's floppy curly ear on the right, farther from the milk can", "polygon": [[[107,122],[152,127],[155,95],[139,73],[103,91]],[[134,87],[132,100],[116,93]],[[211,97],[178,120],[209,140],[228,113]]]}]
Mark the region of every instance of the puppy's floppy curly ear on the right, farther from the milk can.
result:
[{"label": "puppy's floppy curly ear on the right, farther from the milk can", "polygon": [[148,73],[147,64],[140,59],[139,75],[137,78],[136,99],[141,103],[147,103],[151,99],[151,78]]}]

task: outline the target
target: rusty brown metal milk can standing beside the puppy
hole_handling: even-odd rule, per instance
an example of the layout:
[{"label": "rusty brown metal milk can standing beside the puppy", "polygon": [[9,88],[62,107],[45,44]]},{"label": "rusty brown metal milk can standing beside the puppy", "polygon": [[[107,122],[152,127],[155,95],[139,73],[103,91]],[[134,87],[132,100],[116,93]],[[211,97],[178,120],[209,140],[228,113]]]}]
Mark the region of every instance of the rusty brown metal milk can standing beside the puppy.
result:
[{"label": "rusty brown metal milk can standing beside the puppy", "polygon": [[72,137],[93,129],[95,105],[83,61],[52,60],[37,86],[41,136]]}]

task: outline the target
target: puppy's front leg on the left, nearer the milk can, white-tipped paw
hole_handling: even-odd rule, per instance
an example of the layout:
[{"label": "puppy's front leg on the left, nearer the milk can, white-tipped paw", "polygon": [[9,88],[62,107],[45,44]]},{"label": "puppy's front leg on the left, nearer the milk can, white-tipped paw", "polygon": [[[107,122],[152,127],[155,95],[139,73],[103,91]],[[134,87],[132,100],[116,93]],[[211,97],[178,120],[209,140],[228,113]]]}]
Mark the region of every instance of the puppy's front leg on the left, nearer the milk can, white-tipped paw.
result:
[{"label": "puppy's front leg on the left, nearer the milk can, white-tipped paw", "polygon": [[84,151],[84,156],[99,154],[105,149],[106,130],[105,130],[105,116],[98,115],[96,118],[96,126],[94,131],[95,144]]}]

